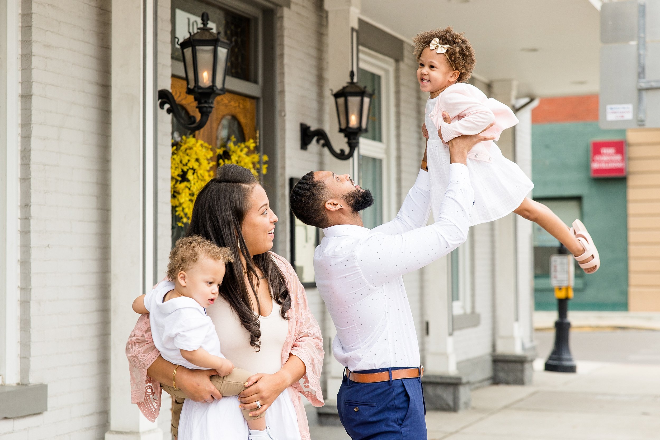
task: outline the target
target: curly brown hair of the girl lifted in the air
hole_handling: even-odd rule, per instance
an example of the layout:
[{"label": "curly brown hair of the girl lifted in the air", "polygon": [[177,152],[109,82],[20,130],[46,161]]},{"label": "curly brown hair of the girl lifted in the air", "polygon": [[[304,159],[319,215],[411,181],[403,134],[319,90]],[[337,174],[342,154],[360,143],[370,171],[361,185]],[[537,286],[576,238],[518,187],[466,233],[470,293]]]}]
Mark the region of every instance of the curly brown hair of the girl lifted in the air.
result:
[{"label": "curly brown hair of the girl lifted in the air", "polygon": [[419,59],[422,55],[422,50],[431,44],[431,41],[436,37],[440,40],[440,44],[449,44],[449,49],[447,49],[445,54],[449,61],[451,61],[453,68],[461,73],[457,82],[465,83],[472,76],[472,70],[475,68],[476,61],[475,50],[470,44],[470,40],[463,36],[463,32],[460,34],[454,32],[451,26],[447,26],[444,29],[420,32],[413,38],[414,57]]}]

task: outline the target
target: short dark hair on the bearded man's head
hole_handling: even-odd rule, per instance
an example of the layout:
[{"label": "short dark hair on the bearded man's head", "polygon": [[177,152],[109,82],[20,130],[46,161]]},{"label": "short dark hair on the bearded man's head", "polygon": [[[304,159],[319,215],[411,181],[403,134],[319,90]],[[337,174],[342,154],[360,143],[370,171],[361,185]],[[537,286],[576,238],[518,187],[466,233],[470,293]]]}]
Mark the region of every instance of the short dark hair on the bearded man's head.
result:
[{"label": "short dark hair on the bearded man's head", "polygon": [[325,183],[314,178],[314,171],[310,171],[292,188],[289,195],[289,205],[294,215],[306,225],[327,228],[328,217],[325,213],[325,202],[328,200],[328,191]]}]

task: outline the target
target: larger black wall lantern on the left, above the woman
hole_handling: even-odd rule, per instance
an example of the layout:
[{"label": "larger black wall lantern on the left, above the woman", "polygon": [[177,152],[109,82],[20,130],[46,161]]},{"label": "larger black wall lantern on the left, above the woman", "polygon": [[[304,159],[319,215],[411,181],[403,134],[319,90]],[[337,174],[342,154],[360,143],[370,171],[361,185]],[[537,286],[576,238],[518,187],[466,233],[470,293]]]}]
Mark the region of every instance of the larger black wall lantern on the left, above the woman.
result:
[{"label": "larger black wall lantern on the left, above the woman", "polygon": [[[199,121],[194,116],[184,114],[167,89],[158,91],[158,105],[172,114],[182,126],[190,131],[197,131],[206,125],[216,96],[224,94],[224,80],[227,76],[230,42],[222,40],[220,33],[213,32],[209,27],[209,14],[202,13],[202,27],[190,34],[179,46],[183,55],[185,71],[185,92],[193,95],[197,101]],[[178,43],[178,41],[177,41]]]}]

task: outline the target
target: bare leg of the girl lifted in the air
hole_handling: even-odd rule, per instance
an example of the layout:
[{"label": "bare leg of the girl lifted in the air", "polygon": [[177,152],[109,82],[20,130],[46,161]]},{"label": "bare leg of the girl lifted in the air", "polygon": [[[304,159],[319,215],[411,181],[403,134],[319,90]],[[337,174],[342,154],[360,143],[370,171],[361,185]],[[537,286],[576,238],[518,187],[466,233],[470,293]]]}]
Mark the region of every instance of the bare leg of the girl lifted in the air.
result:
[{"label": "bare leg of the girl lifted in the air", "polygon": [[[552,237],[559,240],[566,248],[574,255],[580,256],[585,252],[584,246],[578,241],[564,222],[552,212],[552,210],[543,203],[535,202],[529,198],[525,198],[523,203],[517,207],[513,212],[521,217],[533,221],[552,235]],[[593,256],[588,258],[587,261],[593,260]],[[585,269],[587,274],[591,274],[596,268]]]}]

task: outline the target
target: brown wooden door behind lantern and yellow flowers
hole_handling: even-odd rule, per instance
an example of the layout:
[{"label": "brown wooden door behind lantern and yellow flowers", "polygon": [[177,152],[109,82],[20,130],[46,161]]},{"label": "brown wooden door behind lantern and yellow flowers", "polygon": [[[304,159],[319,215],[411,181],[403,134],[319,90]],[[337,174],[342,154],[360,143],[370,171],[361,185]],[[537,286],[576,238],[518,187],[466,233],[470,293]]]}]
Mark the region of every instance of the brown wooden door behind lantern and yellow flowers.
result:
[{"label": "brown wooden door behind lantern and yellow flowers", "polygon": [[[172,94],[176,102],[181,104],[189,114],[199,118],[195,98],[185,93],[185,79],[172,77]],[[230,135],[234,135],[238,142],[248,139],[256,140],[256,122],[256,100],[227,92],[215,98],[215,106],[209,116],[209,122],[195,133],[195,137],[209,143],[214,148],[228,140]]]}]

